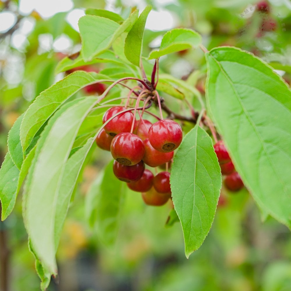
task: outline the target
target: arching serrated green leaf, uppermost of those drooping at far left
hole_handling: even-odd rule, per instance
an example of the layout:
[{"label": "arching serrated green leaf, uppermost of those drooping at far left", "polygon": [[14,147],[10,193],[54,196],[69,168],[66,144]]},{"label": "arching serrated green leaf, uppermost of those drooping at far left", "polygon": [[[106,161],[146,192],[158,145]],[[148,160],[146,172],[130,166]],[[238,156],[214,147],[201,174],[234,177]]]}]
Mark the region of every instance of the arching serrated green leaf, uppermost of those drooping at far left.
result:
[{"label": "arching serrated green leaf, uppermost of those drooping at far left", "polygon": [[93,84],[97,80],[100,80],[99,77],[100,76],[94,72],[74,72],[40,93],[24,113],[20,126],[22,148],[26,150],[34,135],[46,120],[52,116],[68,98],[88,84]]}]

